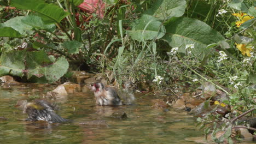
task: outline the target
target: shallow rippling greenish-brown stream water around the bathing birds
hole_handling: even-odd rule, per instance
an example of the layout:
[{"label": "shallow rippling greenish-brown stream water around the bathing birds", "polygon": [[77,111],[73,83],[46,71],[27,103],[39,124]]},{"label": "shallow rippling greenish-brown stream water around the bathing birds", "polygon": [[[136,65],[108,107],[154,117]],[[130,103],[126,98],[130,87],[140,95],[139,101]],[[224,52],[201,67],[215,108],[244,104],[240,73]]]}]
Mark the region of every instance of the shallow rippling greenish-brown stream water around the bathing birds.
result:
[{"label": "shallow rippling greenish-brown stream water around the bathing birds", "polygon": [[[93,93],[78,93],[58,98],[62,117],[73,123],[47,124],[23,121],[27,115],[15,107],[16,101],[42,97],[53,86],[27,85],[0,87],[0,143],[188,143],[187,137],[202,136],[196,130],[195,118],[185,112],[153,109],[154,95],[140,98],[131,106],[95,106]],[[138,96],[140,97],[140,96]],[[137,97],[137,98],[138,98]],[[110,115],[123,110],[122,121]],[[106,125],[81,125],[95,119]]]}]

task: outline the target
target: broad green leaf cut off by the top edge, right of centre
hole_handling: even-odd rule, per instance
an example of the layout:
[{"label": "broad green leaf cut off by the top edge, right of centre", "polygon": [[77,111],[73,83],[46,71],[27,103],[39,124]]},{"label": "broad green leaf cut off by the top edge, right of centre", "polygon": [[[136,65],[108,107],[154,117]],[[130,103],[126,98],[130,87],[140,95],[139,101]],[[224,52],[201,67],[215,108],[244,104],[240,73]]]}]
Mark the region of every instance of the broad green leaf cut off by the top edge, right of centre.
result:
[{"label": "broad green leaf cut off by the top edge, right of centre", "polygon": [[185,0],[158,0],[144,14],[152,15],[160,20],[182,16],[185,12]]}]

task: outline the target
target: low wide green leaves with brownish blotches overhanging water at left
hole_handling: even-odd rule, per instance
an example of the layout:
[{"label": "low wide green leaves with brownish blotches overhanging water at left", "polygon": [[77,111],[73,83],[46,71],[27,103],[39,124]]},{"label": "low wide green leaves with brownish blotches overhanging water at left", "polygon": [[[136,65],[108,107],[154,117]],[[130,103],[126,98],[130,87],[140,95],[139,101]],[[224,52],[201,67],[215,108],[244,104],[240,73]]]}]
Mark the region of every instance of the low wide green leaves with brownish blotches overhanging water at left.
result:
[{"label": "low wide green leaves with brownish blotches overhanging water at left", "polygon": [[10,51],[1,55],[0,76],[37,76],[45,82],[53,83],[66,74],[68,62],[61,57],[52,62],[45,51]]}]

